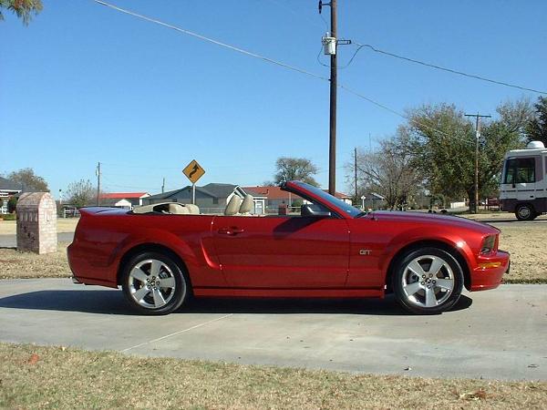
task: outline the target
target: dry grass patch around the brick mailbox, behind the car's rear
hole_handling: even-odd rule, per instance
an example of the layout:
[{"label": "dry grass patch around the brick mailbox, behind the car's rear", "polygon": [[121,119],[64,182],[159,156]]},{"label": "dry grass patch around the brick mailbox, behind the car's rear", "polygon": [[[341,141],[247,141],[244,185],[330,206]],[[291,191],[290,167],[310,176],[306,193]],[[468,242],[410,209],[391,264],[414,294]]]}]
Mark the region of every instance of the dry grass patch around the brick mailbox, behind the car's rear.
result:
[{"label": "dry grass patch around the brick mailbox, behind the car's rear", "polygon": [[0,279],[70,277],[67,246],[68,243],[59,243],[57,252],[45,255],[0,248]]}]

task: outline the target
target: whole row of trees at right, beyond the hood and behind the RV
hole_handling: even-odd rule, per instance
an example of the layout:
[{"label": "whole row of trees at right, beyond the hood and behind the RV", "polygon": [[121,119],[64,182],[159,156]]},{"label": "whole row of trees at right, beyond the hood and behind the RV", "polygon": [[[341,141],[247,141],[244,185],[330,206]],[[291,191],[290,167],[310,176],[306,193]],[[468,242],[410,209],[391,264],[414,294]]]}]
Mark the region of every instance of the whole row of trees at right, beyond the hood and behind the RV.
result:
[{"label": "whole row of trees at right, beyond the hood and behind the RV", "polygon": [[[547,146],[546,97],[535,105],[528,99],[505,102],[496,112],[480,128],[480,198],[498,195],[505,152],[531,140]],[[377,149],[357,149],[357,195],[376,192],[391,209],[407,206],[420,193],[441,202],[474,198],[476,133],[470,118],[451,104],[409,109],[407,118]],[[352,192],[354,162],[346,165]]]}]

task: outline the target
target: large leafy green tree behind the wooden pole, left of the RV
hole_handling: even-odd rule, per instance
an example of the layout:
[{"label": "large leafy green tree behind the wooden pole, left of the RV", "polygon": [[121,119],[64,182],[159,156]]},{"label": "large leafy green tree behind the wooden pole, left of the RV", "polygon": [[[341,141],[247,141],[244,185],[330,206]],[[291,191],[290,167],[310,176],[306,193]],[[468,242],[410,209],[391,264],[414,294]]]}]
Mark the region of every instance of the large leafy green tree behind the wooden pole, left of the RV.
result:
[{"label": "large leafy green tree behind the wooden pole, left of the RV", "polygon": [[[498,188],[503,156],[523,146],[531,106],[527,100],[497,108],[498,119],[482,125],[479,139],[479,192],[489,196]],[[453,105],[423,106],[409,112],[406,149],[422,169],[433,194],[449,199],[474,197],[475,129]]]}]

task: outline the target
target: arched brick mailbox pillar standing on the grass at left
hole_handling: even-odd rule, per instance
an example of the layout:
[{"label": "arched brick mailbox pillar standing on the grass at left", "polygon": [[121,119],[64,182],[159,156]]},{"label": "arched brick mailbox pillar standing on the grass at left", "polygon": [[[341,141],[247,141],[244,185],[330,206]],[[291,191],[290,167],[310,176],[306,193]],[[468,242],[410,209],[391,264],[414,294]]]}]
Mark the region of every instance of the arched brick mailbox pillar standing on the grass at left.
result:
[{"label": "arched brick mailbox pillar standing on the grass at left", "polygon": [[57,206],[48,192],[28,192],[19,197],[17,251],[57,251]]}]

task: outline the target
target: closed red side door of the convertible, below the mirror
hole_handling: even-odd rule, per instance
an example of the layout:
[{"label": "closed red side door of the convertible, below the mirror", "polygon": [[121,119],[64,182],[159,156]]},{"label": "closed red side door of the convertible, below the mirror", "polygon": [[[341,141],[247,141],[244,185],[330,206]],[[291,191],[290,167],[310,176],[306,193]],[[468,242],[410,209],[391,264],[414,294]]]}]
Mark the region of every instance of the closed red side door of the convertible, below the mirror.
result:
[{"label": "closed red side door of the convertible, below the mirror", "polygon": [[235,288],[318,289],[346,284],[347,222],[338,217],[219,216],[214,248]]}]

